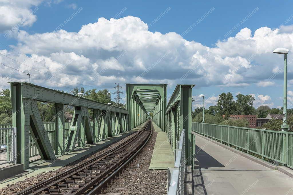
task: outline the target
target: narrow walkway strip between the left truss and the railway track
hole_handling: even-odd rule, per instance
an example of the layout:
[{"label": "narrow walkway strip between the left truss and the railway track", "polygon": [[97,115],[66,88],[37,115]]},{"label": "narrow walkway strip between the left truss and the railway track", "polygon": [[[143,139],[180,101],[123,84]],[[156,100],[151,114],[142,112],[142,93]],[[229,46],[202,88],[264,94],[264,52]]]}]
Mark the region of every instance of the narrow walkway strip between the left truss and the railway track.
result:
[{"label": "narrow walkway strip between the left truss and the railway track", "polygon": [[[144,124],[144,123],[143,123]],[[142,125],[139,125],[139,127],[142,127]],[[61,167],[64,167],[65,165],[72,163],[83,156],[86,156],[90,153],[99,151],[105,147],[110,146],[111,144],[119,141],[123,137],[126,137],[135,131],[139,129],[139,127],[136,130],[128,131],[125,133],[121,133],[119,135],[116,135],[114,137],[109,137],[108,139],[105,139],[103,141],[100,141],[96,144],[86,144],[85,147],[76,147],[75,150],[71,153],[67,153],[63,156],[57,157],[55,160],[37,160],[30,163],[30,169],[28,169],[28,172],[21,173],[19,175],[16,175],[14,177],[7,178],[6,180],[3,180],[0,182],[0,188],[6,187],[7,184],[14,184],[18,181],[25,180],[26,177],[33,177],[35,175],[38,175],[43,172],[48,171],[54,171],[56,169],[59,169]]]}]

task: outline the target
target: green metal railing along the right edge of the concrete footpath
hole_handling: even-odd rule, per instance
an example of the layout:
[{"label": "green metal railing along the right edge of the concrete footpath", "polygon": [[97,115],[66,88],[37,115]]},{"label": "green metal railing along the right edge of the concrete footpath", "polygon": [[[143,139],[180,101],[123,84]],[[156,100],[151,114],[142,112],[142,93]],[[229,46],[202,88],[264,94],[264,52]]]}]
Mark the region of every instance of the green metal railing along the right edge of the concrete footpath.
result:
[{"label": "green metal railing along the right edge of the concrete footpath", "polygon": [[293,132],[192,123],[196,133],[293,168]]}]

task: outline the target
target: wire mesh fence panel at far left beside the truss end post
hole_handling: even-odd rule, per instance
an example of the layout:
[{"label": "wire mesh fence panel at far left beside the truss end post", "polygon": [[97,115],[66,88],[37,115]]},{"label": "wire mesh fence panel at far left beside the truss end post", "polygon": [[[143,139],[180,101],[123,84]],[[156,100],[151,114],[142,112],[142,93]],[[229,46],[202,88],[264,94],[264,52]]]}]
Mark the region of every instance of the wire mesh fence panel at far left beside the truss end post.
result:
[{"label": "wire mesh fence panel at far left beside the truss end post", "polygon": [[0,128],[0,165],[16,163],[16,128]]}]

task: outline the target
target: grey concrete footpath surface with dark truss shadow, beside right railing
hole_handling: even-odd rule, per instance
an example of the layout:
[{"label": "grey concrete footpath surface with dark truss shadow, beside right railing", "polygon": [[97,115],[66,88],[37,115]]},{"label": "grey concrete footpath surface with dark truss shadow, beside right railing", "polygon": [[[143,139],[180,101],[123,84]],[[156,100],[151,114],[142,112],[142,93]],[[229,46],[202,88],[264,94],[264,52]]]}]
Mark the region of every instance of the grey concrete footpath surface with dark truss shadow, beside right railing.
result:
[{"label": "grey concrete footpath surface with dark truss shadow, beside right railing", "polygon": [[292,194],[293,179],[196,134],[195,194]]}]

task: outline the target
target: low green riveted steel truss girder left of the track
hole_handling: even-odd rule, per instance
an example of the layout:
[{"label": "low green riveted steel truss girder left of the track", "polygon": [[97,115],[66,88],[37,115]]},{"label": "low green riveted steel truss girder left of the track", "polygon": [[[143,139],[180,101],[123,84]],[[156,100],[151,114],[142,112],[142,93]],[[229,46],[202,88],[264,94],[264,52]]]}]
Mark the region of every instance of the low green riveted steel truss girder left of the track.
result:
[{"label": "low green riveted steel truss girder left of the track", "polygon": [[[108,138],[111,119],[110,113],[118,115],[115,122],[118,125],[115,134],[128,131],[128,111],[116,106],[92,101],[79,96],[48,89],[25,82],[10,82],[11,103],[13,111],[13,127],[17,129],[17,163],[22,163],[24,169],[29,168],[30,132],[37,140],[36,145],[43,159],[54,159],[54,151],[47,137],[44,125],[38,113],[37,101],[55,103],[55,154],[62,155],[65,151],[73,151],[75,145],[84,146]],[[69,130],[69,140],[65,143],[64,135],[64,105],[74,106],[74,120]],[[33,108],[35,107],[35,108]],[[88,109],[93,109],[93,128],[89,122]],[[73,121],[74,121],[73,120]],[[115,128],[115,124],[113,127]],[[119,131],[120,128],[120,131]],[[112,135],[112,134],[110,134]],[[69,143],[70,142],[70,143]]]}]

